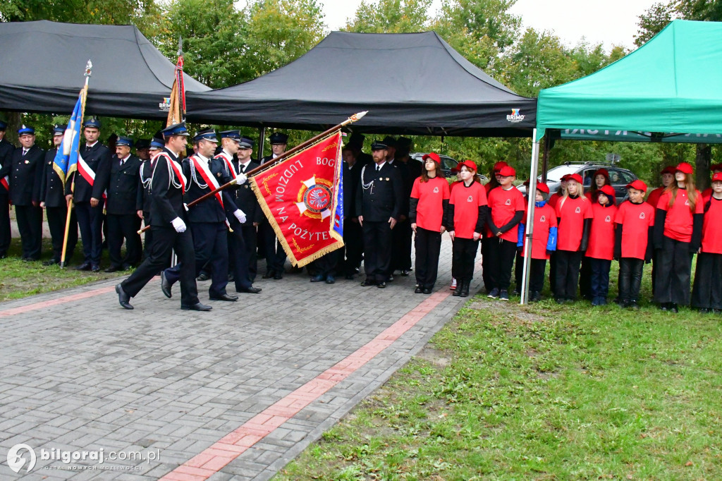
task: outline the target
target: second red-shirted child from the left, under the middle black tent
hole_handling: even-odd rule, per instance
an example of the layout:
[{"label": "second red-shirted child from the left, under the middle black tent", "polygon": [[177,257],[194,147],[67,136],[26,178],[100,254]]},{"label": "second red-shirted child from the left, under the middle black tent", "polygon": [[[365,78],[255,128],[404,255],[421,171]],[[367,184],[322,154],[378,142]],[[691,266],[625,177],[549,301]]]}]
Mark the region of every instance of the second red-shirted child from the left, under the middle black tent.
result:
[{"label": "second red-shirted child from the left, under the middle black tent", "polygon": [[453,295],[465,298],[474,277],[474,260],[487,216],[487,193],[476,178],[474,162],[464,160],[459,166],[463,182],[449,197],[445,228],[453,241],[451,275],[456,279]]}]

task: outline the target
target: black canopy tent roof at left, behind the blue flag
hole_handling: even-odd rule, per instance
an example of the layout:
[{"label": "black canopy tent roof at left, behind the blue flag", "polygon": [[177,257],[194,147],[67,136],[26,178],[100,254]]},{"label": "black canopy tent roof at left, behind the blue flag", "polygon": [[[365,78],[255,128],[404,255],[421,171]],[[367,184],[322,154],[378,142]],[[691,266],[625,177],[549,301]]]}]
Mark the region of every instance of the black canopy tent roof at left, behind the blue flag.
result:
[{"label": "black canopy tent roof at left, behind the blue flag", "polygon": [[[0,110],[70,114],[92,61],[86,113],[161,119],[175,65],[133,25],[0,23]],[[186,91],[210,90],[184,75]]]}]

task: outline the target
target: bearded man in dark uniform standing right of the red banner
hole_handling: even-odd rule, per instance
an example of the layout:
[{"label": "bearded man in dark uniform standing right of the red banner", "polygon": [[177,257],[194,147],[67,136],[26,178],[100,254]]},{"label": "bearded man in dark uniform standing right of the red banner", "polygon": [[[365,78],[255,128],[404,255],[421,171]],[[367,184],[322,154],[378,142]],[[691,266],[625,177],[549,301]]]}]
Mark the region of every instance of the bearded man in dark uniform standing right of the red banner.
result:
[{"label": "bearded man in dark uniform standing right of the red banner", "polygon": [[391,270],[391,231],[401,215],[404,186],[399,169],[386,162],[386,144],[371,145],[373,165],[361,170],[356,192],[356,215],[363,228],[364,270],[362,286],[386,287]]}]

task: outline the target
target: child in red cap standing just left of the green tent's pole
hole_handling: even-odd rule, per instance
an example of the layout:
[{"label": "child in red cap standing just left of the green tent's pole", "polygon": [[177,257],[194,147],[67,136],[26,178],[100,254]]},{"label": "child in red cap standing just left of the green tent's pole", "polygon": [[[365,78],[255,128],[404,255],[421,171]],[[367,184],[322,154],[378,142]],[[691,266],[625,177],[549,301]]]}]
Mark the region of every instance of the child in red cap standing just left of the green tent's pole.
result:
[{"label": "child in red cap standing just left of the green tent's pole", "polygon": [[491,284],[486,287],[491,289],[488,295],[491,299],[509,300],[511,267],[518,239],[517,226],[526,207],[524,196],[514,187],[515,178],[516,170],[505,165],[497,175],[499,186],[489,193],[491,215],[487,217],[487,226],[493,237],[487,248],[484,270],[489,269]]}]

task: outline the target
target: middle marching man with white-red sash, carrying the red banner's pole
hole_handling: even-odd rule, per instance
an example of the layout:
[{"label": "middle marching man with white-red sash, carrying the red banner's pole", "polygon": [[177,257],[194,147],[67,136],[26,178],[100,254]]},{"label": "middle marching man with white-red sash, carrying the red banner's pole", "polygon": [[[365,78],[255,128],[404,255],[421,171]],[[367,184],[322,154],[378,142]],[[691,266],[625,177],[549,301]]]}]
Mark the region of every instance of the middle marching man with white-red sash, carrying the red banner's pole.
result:
[{"label": "middle marching man with white-red sash, carrying the red banner's pole", "polygon": [[[196,134],[194,144],[198,151],[183,160],[183,174],[188,178],[186,204],[199,199],[215,188],[232,181],[224,162],[212,157],[218,146],[218,139],[213,129]],[[245,176],[240,180],[245,182]],[[240,182],[240,181],[239,181]],[[208,290],[211,300],[238,300],[237,295],[228,295],[228,224],[225,209],[229,209],[239,222],[245,220],[245,214],[238,209],[232,196],[222,191],[209,199],[190,207],[188,220],[193,233],[193,248],[196,251],[196,276],[208,264],[211,269],[211,285]],[[170,287],[181,277],[182,267],[175,266],[165,269],[160,276],[163,293],[170,298]]]}]

